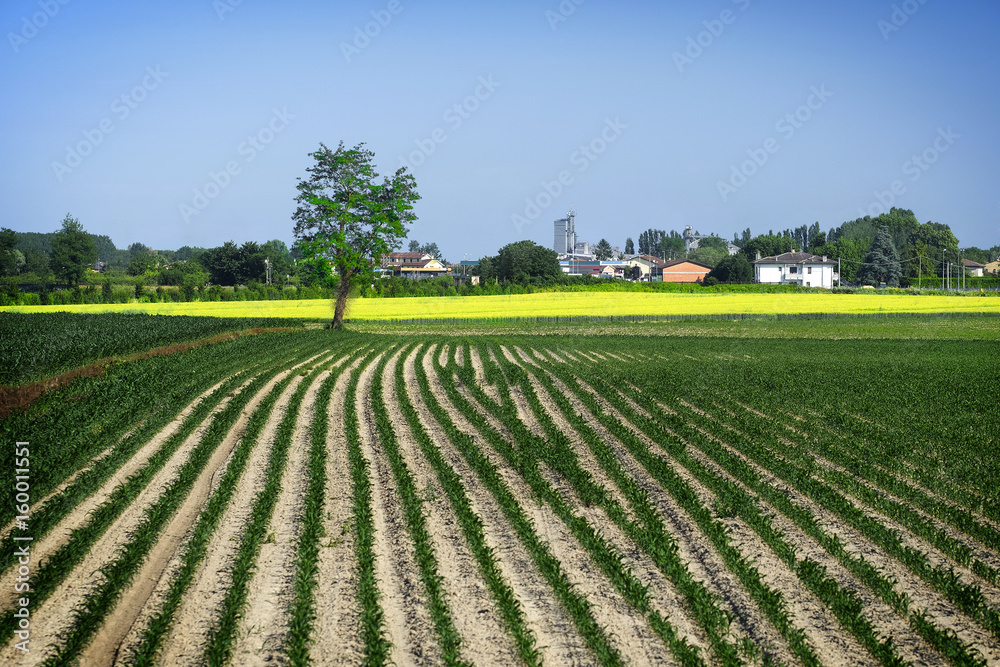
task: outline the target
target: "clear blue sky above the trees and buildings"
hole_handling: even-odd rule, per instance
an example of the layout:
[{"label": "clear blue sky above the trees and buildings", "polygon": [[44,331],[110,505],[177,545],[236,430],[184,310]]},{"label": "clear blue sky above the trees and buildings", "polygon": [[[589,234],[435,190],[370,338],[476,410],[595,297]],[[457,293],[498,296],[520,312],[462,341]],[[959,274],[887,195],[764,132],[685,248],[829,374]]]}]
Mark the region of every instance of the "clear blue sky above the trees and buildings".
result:
[{"label": "clear blue sky above the trees and buildings", "polygon": [[1000,243],[995,0],[4,0],[0,226],[291,245],[320,142],[447,259],[888,206]]}]

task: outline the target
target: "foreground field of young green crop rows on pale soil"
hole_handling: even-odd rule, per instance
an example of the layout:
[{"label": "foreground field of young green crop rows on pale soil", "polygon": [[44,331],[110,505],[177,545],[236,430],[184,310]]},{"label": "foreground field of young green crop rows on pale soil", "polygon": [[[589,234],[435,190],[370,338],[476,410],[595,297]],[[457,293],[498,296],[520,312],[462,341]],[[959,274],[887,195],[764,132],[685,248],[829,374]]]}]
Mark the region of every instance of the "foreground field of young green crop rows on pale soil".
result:
[{"label": "foreground field of young green crop rows on pale soil", "polygon": [[1000,664],[995,336],[543,332],[42,395],[0,421],[0,661]]}]

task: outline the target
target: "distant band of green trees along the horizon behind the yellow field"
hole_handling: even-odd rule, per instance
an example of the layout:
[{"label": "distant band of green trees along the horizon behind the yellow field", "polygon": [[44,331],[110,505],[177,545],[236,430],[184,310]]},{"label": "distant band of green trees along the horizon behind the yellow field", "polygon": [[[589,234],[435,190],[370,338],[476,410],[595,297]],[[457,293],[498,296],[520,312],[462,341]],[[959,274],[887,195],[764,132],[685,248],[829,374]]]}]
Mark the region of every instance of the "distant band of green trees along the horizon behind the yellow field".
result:
[{"label": "distant band of green trees along the horizon behind the yellow field", "polygon": [[[1000,245],[989,249],[959,247],[948,225],[920,223],[907,209],[893,208],[872,218],[865,216],[821,231],[819,223],[789,228],[780,232],[752,235],[749,228],[734,235],[732,244],[740,250],[730,255],[729,242],[718,236],[700,239],[699,247],[685,252],[684,239],[675,230],[647,229],[638,235],[638,247],[632,238],[625,240],[624,255],[652,255],[661,259],[689,259],[712,268],[709,274],[718,282],[753,282],[752,262],[760,257],[802,251],[841,260],[841,277],[856,282],[865,266],[872,242],[885,227],[900,263],[900,278],[916,283],[924,277],[940,276],[945,262],[959,258],[986,264],[1000,258]],[[484,278],[517,281],[524,278],[554,277],[557,262],[547,250],[531,242],[508,244],[500,253],[480,259],[476,271]],[[410,240],[408,250],[428,254],[444,262],[437,243]],[[638,250],[638,253],[636,253]],[[599,260],[614,258],[606,239],[595,246]],[[206,284],[235,286],[268,281],[271,284],[330,287],[336,279],[315,263],[305,261],[298,243],[289,248],[283,241],[265,243],[245,241],[237,245],[227,241],[214,248],[182,246],[177,250],[154,250],[141,242],[119,249],[107,235],[86,232],[71,215],[62,227],[50,233],[15,232],[0,229],[0,278],[39,285],[60,282],[81,284],[88,271],[100,267],[105,279],[141,280],[146,285],[204,287]]]}]

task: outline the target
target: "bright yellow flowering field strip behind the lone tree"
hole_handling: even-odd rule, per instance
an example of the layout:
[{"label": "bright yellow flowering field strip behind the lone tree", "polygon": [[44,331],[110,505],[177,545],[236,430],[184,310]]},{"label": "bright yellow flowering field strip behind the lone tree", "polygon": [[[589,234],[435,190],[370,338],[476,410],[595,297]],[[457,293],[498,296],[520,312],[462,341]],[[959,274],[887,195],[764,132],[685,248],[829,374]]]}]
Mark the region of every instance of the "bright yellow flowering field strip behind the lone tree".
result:
[{"label": "bright yellow flowering field strip behind the lone tree", "polygon": [[[214,317],[293,317],[327,319],[328,300],[132,303],[66,306],[9,306],[3,311],[80,313],[145,312]],[[356,299],[349,318],[579,317],[588,315],[717,315],[786,313],[996,313],[1000,298],[890,294],[656,294],[549,292],[512,296]]]}]

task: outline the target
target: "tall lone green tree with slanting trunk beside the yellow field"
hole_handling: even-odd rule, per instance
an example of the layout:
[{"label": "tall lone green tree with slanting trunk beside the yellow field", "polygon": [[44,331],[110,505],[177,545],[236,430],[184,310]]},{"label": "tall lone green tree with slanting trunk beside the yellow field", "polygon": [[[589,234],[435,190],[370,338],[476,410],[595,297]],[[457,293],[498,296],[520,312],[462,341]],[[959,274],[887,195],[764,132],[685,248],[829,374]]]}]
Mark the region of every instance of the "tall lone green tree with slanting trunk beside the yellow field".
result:
[{"label": "tall lone green tree with slanting trunk beside the yellow field", "polygon": [[406,238],[408,223],[417,219],[413,203],[420,199],[417,182],[406,168],[378,183],[372,164],[375,154],[364,143],[336,151],[323,144],[309,156],[316,164],[299,179],[292,215],[295,238],[306,261],[340,277],[333,327],[341,328],[351,282],[370,279],[382,257]]}]

